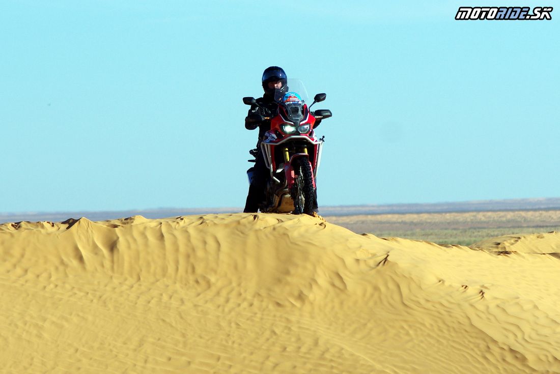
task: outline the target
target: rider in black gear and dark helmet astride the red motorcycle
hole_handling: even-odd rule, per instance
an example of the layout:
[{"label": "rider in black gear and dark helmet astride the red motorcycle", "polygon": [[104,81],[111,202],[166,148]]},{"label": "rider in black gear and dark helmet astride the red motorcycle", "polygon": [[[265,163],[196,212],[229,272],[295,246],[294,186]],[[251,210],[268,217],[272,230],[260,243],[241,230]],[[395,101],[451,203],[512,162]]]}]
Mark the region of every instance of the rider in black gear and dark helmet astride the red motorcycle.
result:
[{"label": "rider in black gear and dark helmet astride the red motorcycle", "polygon": [[[276,114],[278,104],[275,99],[277,97],[282,97],[288,92],[286,72],[278,66],[266,68],[263,72],[262,85],[264,95],[256,99],[256,102],[264,109],[256,105],[251,105],[245,118],[246,129],[254,130],[257,127],[259,128],[259,140],[256,143],[257,151],[253,170],[253,181],[249,185],[249,193],[247,194],[245,209],[243,210],[244,213],[256,213],[259,209],[259,204],[265,200],[265,189],[270,174],[264,163],[264,155],[260,147],[260,142],[263,140],[264,134],[270,130],[270,120],[265,120],[264,117],[271,117]],[[314,128],[318,125],[319,121],[316,121]],[[315,191],[314,216],[318,216],[317,211],[317,195]]]}]

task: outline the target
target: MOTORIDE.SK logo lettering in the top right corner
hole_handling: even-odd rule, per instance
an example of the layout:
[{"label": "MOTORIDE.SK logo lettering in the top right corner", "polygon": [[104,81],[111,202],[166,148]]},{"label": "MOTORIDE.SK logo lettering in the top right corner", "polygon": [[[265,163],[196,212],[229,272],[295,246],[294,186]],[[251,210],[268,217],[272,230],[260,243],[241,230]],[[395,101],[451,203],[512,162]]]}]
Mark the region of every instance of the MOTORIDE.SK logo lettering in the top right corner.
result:
[{"label": "MOTORIDE.SK logo lettering in the top right corner", "polygon": [[456,20],[552,20],[552,7],[459,7]]}]

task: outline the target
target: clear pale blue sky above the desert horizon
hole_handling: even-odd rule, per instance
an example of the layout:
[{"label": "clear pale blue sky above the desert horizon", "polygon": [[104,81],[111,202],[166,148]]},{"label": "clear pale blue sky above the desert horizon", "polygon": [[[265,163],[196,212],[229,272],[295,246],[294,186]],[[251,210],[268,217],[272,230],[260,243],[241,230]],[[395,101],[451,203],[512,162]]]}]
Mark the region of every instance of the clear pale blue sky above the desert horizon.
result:
[{"label": "clear pale blue sky above the desert horizon", "polygon": [[271,65],[333,111],[320,205],[558,197],[560,7],[477,5],[3,1],[0,212],[242,207]]}]

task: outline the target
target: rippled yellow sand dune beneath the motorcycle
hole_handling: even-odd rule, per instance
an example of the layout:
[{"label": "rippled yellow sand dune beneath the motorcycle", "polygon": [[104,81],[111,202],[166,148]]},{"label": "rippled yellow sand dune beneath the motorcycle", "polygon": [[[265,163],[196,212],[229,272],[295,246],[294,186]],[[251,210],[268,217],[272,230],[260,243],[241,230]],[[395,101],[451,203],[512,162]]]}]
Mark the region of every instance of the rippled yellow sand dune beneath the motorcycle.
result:
[{"label": "rippled yellow sand dune beneath the motorcycle", "polygon": [[0,371],[560,373],[558,252],[281,214],[7,223]]}]

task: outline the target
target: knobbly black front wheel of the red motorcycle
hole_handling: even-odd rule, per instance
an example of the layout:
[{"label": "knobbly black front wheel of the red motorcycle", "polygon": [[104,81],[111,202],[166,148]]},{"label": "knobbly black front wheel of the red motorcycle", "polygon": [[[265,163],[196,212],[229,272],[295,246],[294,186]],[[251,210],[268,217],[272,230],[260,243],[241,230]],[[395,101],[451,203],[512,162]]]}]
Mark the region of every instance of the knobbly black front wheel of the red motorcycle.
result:
[{"label": "knobbly black front wheel of the red motorcycle", "polygon": [[291,191],[294,213],[311,215],[315,205],[315,188],[313,187],[311,164],[307,158],[299,157],[294,160],[293,166],[296,176]]}]

